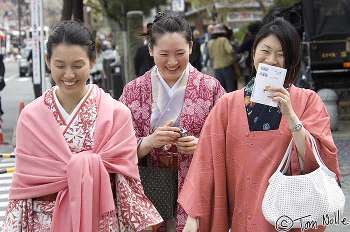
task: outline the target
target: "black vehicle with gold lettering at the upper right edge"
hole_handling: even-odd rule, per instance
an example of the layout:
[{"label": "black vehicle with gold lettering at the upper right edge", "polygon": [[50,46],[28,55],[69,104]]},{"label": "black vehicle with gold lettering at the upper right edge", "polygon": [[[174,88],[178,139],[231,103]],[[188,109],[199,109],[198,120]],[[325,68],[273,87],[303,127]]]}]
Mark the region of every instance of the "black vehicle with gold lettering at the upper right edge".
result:
[{"label": "black vehicle with gold lettering at the upper right edge", "polygon": [[350,87],[350,0],[301,0],[276,6],[302,38],[299,87],[347,91]]}]

